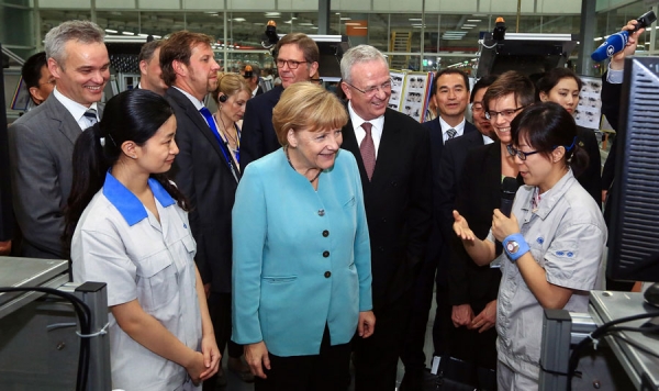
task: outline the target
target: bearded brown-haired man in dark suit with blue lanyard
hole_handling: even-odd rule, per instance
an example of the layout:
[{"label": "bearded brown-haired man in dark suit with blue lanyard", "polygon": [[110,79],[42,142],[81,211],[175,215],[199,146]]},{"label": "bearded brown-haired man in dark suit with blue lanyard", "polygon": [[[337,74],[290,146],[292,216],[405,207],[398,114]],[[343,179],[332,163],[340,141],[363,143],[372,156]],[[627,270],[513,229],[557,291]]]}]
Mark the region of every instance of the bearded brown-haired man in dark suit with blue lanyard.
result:
[{"label": "bearded brown-haired man in dark suit with blue lanyard", "polygon": [[[197,242],[194,261],[206,295],[220,351],[231,337],[231,210],[239,171],[222,143],[221,129],[203,99],[217,88],[220,66],[213,58],[212,37],[180,31],[160,48],[165,98],[174,108],[179,154],[171,172],[191,204],[190,228]],[[222,372],[204,381],[204,390]]]}]

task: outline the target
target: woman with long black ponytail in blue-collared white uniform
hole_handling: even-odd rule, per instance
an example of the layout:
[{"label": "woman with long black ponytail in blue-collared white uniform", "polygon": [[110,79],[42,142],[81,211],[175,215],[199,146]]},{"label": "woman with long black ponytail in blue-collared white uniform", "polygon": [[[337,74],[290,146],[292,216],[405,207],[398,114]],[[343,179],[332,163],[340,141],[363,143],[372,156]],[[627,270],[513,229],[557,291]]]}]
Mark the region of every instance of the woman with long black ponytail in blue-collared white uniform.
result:
[{"label": "woman with long black ponytail in blue-collared white uniform", "polygon": [[66,234],[74,280],[108,283],[113,389],[193,390],[220,364],[187,203],[164,175],[175,133],[169,103],[138,89],[74,149]]}]

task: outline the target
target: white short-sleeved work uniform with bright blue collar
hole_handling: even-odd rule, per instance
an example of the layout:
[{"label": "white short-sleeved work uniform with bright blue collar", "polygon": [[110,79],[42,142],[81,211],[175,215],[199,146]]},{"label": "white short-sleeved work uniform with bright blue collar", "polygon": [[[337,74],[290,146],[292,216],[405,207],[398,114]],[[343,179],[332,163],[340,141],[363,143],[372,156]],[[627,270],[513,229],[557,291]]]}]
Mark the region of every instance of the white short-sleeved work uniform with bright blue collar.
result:
[{"label": "white short-sleeved work uniform with bright blue collar", "polygon": [[[110,172],[85,209],[71,242],[76,282],[108,283],[108,306],[137,299],[146,313],[193,350],[201,347],[201,315],[188,213],[155,179],[160,222]],[[110,319],[112,388],[193,390],[186,369],[132,339]]]}]

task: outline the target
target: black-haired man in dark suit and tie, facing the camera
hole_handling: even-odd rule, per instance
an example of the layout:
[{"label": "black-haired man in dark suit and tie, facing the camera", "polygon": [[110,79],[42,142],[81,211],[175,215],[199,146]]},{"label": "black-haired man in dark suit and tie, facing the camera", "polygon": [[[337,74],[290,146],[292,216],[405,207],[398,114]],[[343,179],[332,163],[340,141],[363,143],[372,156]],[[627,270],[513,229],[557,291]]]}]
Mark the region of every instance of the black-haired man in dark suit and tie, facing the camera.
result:
[{"label": "black-haired man in dark suit and tie, facing the camera", "polygon": [[[437,272],[437,313],[435,316],[434,342],[435,350],[440,354],[444,350],[445,335],[448,333],[450,322],[450,310],[447,303],[445,247],[437,224],[437,197],[443,185],[439,180],[439,170],[445,144],[448,141],[457,141],[468,137],[470,134],[480,134],[476,127],[465,119],[467,104],[469,102],[469,78],[459,69],[443,69],[435,74],[431,99],[437,108],[437,118],[423,125],[428,130],[431,136],[431,159],[433,180],[433,224],[427,253],[414,283],[412,298],[412,312],[407,329],[405,350],[402,355],[405,365],[405,377],[401,384],[403,390],[416,390],[421,387],[423,370],[425,368],[425,355],[423,346],[425,340],[428,313],[433,302],[433,288],[435,287],[435,271]],[[462,136],[463,135],[463,136]],[[439,265],[439,268],[438,268]]]}]

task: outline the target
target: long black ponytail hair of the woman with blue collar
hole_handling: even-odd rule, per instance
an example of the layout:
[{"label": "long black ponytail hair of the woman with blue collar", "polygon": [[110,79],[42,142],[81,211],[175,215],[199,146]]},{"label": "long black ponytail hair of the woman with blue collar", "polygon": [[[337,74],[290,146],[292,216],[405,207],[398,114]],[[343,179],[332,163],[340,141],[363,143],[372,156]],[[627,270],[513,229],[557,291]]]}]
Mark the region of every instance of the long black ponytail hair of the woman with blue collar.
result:
[{"label": "long black ponytail hair of the woman with blue collar", "polygon": [[[63,235],[65,254],[78,220],[93,196],[103,187],[105,172],[122,156],[121,146],[127,141],[143,146],[174,115],[174,110],[159,94],[135,89],[119,93],[108,101],[103,119],[78,137],[74,147],[74,182],[65,209]],[[188,210],[183,194],[165,174],[152,174],[180,208]]]}]

